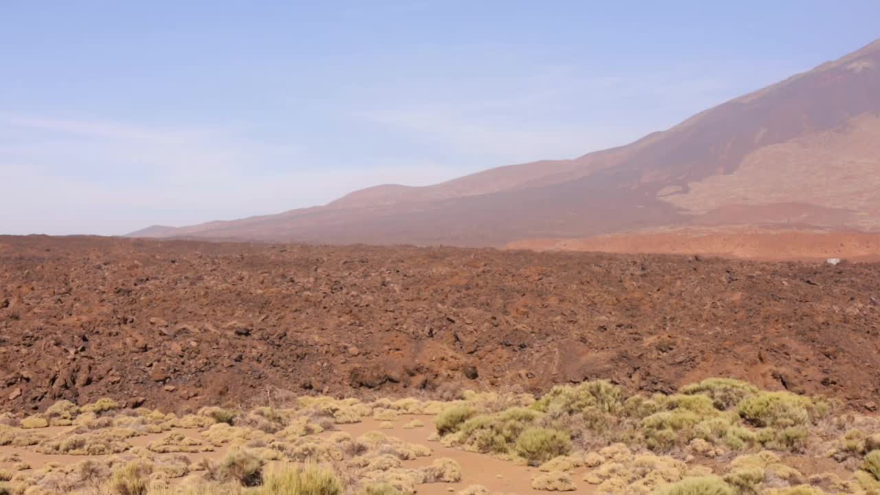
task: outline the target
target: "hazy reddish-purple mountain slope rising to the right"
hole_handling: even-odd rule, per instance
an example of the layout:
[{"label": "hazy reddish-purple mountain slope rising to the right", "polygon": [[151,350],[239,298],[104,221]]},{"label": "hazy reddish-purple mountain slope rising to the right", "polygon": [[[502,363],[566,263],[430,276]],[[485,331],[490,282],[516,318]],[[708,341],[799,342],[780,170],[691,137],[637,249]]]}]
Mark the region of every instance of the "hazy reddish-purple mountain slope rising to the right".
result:
[{"label": "hazy reddish-purple mountain slope rising to the right", "polygon": [[503,246],[715,225],[880,231],[880,41],[577,159],[130,235]]}]

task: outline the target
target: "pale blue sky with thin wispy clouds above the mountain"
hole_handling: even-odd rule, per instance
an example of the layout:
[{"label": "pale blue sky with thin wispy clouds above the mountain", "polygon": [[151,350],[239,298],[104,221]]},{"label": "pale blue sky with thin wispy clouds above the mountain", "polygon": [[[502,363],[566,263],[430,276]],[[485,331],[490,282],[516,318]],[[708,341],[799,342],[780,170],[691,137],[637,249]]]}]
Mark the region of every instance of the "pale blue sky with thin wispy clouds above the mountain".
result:
[{"label": "pale blue sky with thin wispy clouds above the mountain", "polygon": [[0,233],[575,158],[880,38],[876,0],[0,0]]}]

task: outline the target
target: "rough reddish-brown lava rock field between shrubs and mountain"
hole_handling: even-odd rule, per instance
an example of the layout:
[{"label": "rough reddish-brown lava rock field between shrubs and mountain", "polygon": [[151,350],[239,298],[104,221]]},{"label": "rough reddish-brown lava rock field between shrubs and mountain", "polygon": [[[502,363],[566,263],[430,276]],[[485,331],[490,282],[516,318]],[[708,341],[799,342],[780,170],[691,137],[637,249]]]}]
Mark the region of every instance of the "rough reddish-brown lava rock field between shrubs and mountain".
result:
[{"label": "rough reddish-brown lava rock field between shrubs and mountain", "polygon": [[0,409],[708,376],[880,396],[880,265],[0,237]]}]

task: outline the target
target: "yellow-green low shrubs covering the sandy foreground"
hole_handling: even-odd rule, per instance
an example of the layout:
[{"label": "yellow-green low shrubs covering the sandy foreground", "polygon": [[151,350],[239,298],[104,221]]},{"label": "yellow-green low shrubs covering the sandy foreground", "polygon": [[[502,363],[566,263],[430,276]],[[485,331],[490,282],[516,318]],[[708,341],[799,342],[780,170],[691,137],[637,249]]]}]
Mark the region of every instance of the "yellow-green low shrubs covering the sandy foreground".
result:
[{"label": "yellow-green low shrubs covering the sandy foreground", "polygon": [[[880,421],[853,414],[827,417],[828,404],[815,397],[720,379],[670,395],[627,395],[596,381],[556,387],[537,400],[496,392],[464,391],[460,397],[451,403],[304,397],[290,409],[204,408],[181,417],[121,410],[107,401],[88,408],[59,401],[25,420],[70,421],[69,427],[41,434],[40,428],[19,427],[25,420],[12,417],[12,425],[0,425],[0,446],[75,454],[86,462],[31,469],[15,455],[0,457],[16,467],[0,469],[0,483],[16,495],[43,493],[25,494],[28,485],[77,495],[102,490],[116,495],[414,495],[421,484],[474,481],[463,478],[451,458],[407,467],[407,461],[429,456],[431,449],[399,440],[393,432],[377,429],[357,438],[326,432],[344,429],[343,416],[371,421],[373,428],[420,428],[422,419],[406,416],[432,410],[436,440],[444,446],[539,466],[532,487],[543,491],[575,490],[573,480],[583,479],[597,493],[634,495],[880,492]],[[378,419],[392,417],[393,422]],[[143,443],[134,440],[141,435],[153,436]],[[212,451],[218,462],[187,458]],[[807,477],[782,461],[792,451],[827,453],[853,476]],[[89,456],[97,454],[106,457],[92,462]],[[477,484],[460,492],[487,495]]]}]

